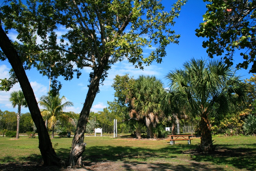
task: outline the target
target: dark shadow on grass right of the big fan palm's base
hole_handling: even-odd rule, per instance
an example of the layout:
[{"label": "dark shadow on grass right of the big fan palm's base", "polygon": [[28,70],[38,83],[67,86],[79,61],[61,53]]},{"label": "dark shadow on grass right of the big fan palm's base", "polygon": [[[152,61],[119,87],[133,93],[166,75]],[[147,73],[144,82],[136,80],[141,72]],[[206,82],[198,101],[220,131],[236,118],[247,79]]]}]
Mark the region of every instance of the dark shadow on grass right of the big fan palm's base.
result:
[{"label": "dark shadow on grass right of the big fan palm's base", "polygon": [[238,169],[255,170],[256,168],[256,144],[246,144],[252,148],[234,146],[241,145],[221,145],[220,148],[211,153],[192,152],[191,159],[197,162],[213,162],[215,164],[232,165]]}]

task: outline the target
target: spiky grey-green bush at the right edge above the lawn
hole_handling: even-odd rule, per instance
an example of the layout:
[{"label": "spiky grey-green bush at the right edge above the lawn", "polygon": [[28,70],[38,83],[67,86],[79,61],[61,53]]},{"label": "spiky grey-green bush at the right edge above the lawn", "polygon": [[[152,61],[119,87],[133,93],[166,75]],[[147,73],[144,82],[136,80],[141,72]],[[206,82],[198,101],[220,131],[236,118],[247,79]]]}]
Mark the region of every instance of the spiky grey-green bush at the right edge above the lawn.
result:
[{"label": "spiky grey-green bush at the right edge above the lawn", "polygon": [[249,114],[243,125],[245,135],[256,134],[256,116]]}]

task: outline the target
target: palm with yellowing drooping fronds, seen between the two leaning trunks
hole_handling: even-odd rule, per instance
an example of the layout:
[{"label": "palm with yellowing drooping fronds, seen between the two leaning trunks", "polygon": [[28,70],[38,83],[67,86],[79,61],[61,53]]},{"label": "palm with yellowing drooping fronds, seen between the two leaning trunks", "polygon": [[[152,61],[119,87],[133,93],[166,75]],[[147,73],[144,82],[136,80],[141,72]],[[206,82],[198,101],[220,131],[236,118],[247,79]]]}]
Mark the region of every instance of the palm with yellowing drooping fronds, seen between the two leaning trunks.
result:
[{"label": "palm with yellowing drooping fronds, seen between the two leaning trunks", "polygon": [[61,104],[63,100],[66,100],[64,96],[60,98],[59,94],[56,96],[50,94],[48,96],[42,96],[38,102],[44,108],[40,109],[42,116],[48,118],[48,128],[52,129],[51,138],[54,138],[54,126],[58,119],[68,119],[74,123],[72,114],[63,112],[66,107],[73,106],[73,103],[67,101]]}]

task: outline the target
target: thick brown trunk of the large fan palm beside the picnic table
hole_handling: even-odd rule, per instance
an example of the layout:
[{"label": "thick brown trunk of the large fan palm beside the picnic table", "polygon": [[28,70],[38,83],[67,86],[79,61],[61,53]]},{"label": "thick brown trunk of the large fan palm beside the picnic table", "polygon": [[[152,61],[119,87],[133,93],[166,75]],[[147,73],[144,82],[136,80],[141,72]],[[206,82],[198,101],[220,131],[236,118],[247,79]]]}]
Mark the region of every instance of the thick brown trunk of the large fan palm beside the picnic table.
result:
[{"label": "thick brown trunk of the large fan palm beside the picnic table", "polygon": [[201,115],[201,121],[199,124],[201,131],[201,144],[200,151],[210,152],[215,150],[213,145],[210,121],[207,118],[207,112],[203,112]]}]

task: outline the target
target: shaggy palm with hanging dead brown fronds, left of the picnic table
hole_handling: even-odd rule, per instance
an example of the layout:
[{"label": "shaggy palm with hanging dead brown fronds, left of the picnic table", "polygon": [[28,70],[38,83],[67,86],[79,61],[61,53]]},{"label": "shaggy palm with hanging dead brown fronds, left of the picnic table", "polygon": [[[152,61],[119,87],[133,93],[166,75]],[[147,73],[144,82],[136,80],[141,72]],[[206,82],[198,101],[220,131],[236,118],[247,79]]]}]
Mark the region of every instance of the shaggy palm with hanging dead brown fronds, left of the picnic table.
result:
[{"label": "shaggy palm with hanging dead brown fronds, left of the picnic table", "polygon": [[129,114],[135,115],[137,120],[144,120],[147,127],[147,136],[154,138],[153,127],[159,122],[163,112],[161,110],[161,100],[164,89],[160,80],[155,76],[139,76],[134,85],[134,96],[131,101]]}]

